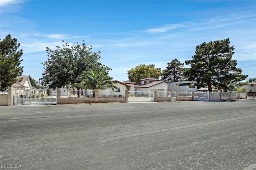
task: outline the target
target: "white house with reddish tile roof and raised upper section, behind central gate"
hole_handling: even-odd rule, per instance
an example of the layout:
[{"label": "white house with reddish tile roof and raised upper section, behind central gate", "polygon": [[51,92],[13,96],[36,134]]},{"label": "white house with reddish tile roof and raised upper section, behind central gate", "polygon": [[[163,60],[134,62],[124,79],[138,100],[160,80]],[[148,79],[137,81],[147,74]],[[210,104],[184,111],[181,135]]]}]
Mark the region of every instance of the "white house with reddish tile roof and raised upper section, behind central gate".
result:
[{"label": "white house with reddish tile roof and raised upper section, behind central gate", "polygon": [[[135,88],[137,92],[147,93],[148,96],[153,96],[154,90],[158,92],[167,92],[168,83],[157,78],[140,79],[141,84]],[[151,92],[151,93],[150,93]]]}]

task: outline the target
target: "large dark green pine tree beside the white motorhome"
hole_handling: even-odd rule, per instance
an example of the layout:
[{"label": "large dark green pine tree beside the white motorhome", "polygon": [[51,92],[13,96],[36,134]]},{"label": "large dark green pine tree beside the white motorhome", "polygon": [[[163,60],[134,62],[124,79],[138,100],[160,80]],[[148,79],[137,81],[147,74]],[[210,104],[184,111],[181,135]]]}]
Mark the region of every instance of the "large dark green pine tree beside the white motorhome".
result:
[{"label": "large dark green pine tree beside the white motorhome", "polygon": [[236,68],[237,61],[232,60],[233,54],[234,46],[230,46],[229,38],[202,43],[196,46],[192,60],[185,61],[191,66],[185,76],[188,80],[196,80],[198,87],[208,86],[209,91],[212,91],[212,85],[227,91],[231,84],[247,77],[241,74],[240,68]]}]

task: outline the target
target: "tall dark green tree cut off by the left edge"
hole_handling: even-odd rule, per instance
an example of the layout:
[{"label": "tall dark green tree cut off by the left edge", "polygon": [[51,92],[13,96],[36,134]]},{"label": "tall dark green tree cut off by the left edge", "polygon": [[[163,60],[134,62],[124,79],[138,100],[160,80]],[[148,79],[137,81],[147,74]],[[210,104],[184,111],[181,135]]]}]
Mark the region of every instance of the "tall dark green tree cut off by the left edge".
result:
[{"label": "tall dark green tree cut off by the left edge", "polygon": [[12,86],[23,72],[23,66],[20,66],[22,49],[18,50],[19,47],[20,43],[10,34],[0,41],[0,90]]}]

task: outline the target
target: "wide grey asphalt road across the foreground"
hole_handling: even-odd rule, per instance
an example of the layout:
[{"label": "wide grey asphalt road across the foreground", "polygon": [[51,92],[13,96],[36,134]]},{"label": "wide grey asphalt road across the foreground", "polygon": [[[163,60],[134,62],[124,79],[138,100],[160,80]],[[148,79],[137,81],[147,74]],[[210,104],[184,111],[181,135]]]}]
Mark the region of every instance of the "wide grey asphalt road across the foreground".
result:
[{"label": "wide grey asphalt road across the foreground", "polygon": [[0,107],[0,168],[255,170],[256,100]]}]

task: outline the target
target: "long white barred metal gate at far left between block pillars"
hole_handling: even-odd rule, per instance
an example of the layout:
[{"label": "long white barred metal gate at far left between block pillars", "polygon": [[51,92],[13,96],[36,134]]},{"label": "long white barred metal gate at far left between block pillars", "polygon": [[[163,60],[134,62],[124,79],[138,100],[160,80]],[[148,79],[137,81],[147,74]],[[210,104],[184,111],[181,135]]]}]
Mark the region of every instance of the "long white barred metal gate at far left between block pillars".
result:
[{"label": "long white barred metal gate at far left between block pillars", "polygon": [[57,89],[15,89],[14,105],[57,104]]}]

